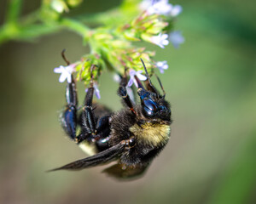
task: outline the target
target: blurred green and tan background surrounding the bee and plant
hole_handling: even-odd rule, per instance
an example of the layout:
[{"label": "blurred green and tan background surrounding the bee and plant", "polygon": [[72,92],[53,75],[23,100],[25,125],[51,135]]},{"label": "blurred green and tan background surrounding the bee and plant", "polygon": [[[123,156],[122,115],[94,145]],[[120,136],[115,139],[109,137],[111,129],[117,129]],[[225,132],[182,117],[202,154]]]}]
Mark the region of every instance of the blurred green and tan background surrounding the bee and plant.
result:
[{"label": "blurred green and tan background surrounding the bee and plant", "polygon": [[[8,1],[1,0],[0,22]],[[24,13],[39,1],[24,1]],[[119,1],[84,1],[100,12]],[[148,46],[167,60],[161,75],[172,103],[172,138],[143,178],[119,182],[102,167],[45,173],[84,157],[61,130],[64,84],[53,72],[88,52],[61,31],[0,47],[0,203],[256,203],[256,24],[253,0],[180,0],[179,49]],[[101,103],[121,108],[112,76],[101,78]],[[84,91],[79,88],[80,101]]]}]

